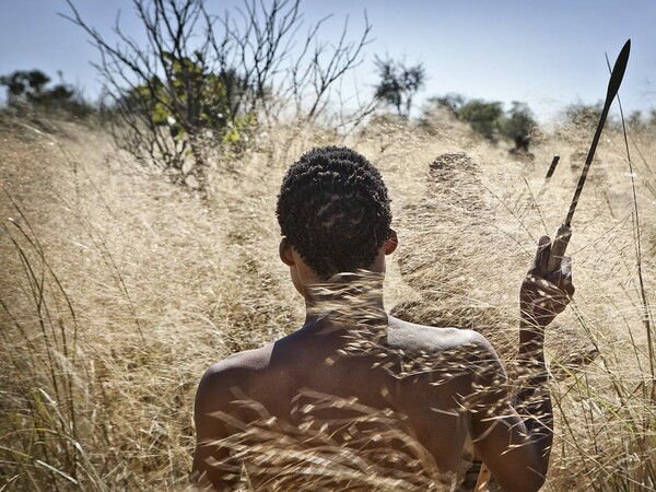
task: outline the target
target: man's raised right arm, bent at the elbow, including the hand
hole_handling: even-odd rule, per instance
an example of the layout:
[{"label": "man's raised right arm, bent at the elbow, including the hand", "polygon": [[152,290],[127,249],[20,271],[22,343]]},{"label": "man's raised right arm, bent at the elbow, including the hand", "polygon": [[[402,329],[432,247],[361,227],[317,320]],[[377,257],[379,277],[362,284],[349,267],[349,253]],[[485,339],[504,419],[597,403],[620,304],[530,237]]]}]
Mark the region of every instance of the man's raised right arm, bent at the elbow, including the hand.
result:
[{"label": "man's raised right arm, bent at the elbow, including the hand", "polygon": [[[544,482],[553,438],[553,414],[544,365],[544,327],[574,294],[569,258],[548,271],[551,242],[540,238],[534,265],[520,290],[519,390],[512,402],[505,374],[489,347],[477,382],[480,395],[471,419],[477,454],[506,491],[538,490]],[[483,358],[484,359],[484,358]]]}]

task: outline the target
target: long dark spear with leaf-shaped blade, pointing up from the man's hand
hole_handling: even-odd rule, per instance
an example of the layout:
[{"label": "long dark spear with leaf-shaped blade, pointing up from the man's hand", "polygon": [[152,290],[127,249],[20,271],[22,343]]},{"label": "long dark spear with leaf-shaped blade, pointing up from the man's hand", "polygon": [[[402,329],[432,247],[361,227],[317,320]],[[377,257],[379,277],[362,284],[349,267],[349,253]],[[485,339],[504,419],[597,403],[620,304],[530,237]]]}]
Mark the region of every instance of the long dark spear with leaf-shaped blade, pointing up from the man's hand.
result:
[{"label": "long dark spear with leaf-shaped blade, pointing up from the man's hand", "polygon": [[626,63],[629,62],[630,50],[631,39],[628,39],[622,50],[620,51],[620,55],[618,55],[618,59],[616,60],[614,67],[612,68],[610,81],[608,82],[608,92],[606,93],[606,102],[604,103],[604,109],[601,110],[601,116],[599,116],[599,122],[597,124],[597,131],[595,131],[595,137],[593,138],[590,150],[588,151],[588,155],[585,160],[585,165],[583,166],[581,177],[578,178],[578,184],[576,185],[576,191],[574,191],[572,203],[570,203],[567,216],[565,218],[565,222],[559,227],[558,232],[555,233],[555,239],[551,245],[551,255],[549,257],[548,265],[549,271],[555,271],[560,269],[561,260],[565,255],[565,250],[567,249],[570,237],[572,237],[572,216],[574,215],[574,211],[576,210],[576,206],[578,204],[578,198],[581,197],[581,191],[583,191],[583,185],[585,185],[590,164],[593,163],[593,157],[595,156],[595,151],[597,150],[597,143],[599,143],[599,137],[601,137],[601,130],[604,129],[604,124],[606,124],[608,110],[610,109],[610,105],[614,99],[616,95],[618,94],[620,84],[622,83],[622,78],[624,77],[624,71],[626,70]]}]

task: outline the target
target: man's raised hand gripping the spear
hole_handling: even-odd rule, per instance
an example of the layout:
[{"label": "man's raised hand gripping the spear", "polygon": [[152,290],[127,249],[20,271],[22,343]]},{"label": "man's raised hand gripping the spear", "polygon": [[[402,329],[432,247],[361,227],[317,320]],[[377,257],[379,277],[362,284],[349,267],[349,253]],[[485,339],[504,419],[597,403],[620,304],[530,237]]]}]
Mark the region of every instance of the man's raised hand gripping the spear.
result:
[{"label": "man's raised hand gripping the spear", "polygon": [[570,257],[563,257],[560,269],[549,271],[550,254],[551,239],[548,236],[540,237],[536,258],[519,291],[522,320],[534,329],[549,325],[574,295]]}]

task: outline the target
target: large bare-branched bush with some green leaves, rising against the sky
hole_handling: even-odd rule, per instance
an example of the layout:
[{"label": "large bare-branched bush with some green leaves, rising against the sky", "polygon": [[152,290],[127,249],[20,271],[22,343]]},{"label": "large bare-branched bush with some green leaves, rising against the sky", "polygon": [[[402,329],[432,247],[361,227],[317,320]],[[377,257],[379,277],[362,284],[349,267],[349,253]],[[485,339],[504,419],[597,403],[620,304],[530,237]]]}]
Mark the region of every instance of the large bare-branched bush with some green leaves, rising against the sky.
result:
[{"label": "large bare-branched bush with some green leaves, rising against the sky", "polygon": [[[132,0],[145,42],[125,33],[117,15],[115,44],[67,3],[71,13],[61,15],[98,49],[95,67],[122,127],[115,129],[119,147],[175,180],[194,175],[200,188],[208,149],[221,148],[235,129],[239,140],[250,125],[244,127],[245,117],[261,125],[290,108],[307,122],[326,116],[331,92],[339,92],[332,89],[361,63],[372,30],[365,14],[350,42],[347,19],[336,44],[321,42],[325,17],[297,45],[301,0],[244,0],[236,15],[220,16],[204,0]],[[347,119],[361,121],[371,110],[364,103]]]}]

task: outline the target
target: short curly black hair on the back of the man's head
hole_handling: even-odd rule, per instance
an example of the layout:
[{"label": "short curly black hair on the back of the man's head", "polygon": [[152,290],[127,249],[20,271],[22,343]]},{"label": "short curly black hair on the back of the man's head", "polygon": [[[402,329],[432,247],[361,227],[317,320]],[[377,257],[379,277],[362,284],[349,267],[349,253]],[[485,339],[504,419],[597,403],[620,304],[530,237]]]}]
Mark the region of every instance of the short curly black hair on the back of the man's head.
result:
[{"label": "short curly black hair on the back of the man's head", "polygon": [[290,167],[276,214],[282,235],[323,280],[372,265],[391,223],[378,169],[338,147],[313,149]]}]

